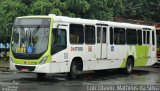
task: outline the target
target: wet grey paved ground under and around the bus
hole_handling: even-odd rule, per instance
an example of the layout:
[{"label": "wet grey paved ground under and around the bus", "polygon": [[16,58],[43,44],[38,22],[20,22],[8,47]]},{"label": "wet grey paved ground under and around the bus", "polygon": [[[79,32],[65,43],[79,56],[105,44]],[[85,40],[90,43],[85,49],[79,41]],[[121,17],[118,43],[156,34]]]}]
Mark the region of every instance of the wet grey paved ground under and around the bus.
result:
[{"label": "wet grey paved ground under and around the bus", "polygon": [[[81,79],[73,81],[67,80],[63,74],[49,74],[42,80],[33,73],[0,72],[0,85],[0,91],[110,91],[115,90],[113,85],[160,87],[160,67],[135,68],[132,75],[126,75],[120,70],[90,72],[83,74]],[[111,87],[109,89],[104,86]],[[160,91],[160,88],[155,88],[149,91]]]}]

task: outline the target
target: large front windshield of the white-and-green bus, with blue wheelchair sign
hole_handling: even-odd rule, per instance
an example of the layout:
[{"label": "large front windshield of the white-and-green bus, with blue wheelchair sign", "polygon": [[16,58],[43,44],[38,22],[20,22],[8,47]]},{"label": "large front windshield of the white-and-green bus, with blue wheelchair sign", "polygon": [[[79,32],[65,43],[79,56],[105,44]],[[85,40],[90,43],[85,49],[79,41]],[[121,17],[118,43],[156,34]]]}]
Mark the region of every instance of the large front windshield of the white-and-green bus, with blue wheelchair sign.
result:
[{"label": "large front windshield of the white-and-green bus, with blue wheelchair sign", "polygon": [[49,21],[49,19],[16,20],[12,34],[12,51],[19,54],[45,52],[48,48]]}]

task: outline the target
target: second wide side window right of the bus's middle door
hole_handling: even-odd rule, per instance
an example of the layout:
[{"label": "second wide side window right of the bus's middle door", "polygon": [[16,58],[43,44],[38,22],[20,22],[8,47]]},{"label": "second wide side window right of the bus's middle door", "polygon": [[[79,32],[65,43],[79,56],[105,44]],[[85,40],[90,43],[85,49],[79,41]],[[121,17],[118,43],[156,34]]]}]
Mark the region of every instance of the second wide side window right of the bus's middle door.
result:
[{"label": "second wide side window right of the bus's middle door", "polygon": [[137,44],[137,31],[135,29],[126,29],[127,44]]}]

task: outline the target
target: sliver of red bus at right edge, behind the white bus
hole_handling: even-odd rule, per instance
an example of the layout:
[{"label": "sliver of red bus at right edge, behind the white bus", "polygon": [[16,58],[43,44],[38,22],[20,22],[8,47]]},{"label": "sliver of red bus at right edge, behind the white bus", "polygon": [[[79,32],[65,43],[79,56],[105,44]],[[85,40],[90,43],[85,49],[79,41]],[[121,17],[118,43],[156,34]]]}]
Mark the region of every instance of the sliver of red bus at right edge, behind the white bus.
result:
[{"label": "sliver of red bus at right edge, behind the white bus", "polygon": [[157,35],[157,63],[160,63],[160,29],[156,30]]}]

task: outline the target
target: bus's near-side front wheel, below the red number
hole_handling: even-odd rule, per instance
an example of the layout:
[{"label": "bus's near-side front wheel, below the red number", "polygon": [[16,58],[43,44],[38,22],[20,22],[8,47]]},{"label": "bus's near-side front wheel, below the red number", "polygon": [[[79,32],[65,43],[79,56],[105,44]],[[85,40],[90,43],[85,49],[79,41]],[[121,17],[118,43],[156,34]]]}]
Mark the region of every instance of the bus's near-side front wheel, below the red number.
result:
[{"label": "bus's near-side front wheel, below the red number", "polygon": [[73,61],[71,64],[70,72],[67,74],[68,79],[73,80],[73,79],[78,78],[78,71],[79,71],[78,62]]}]

